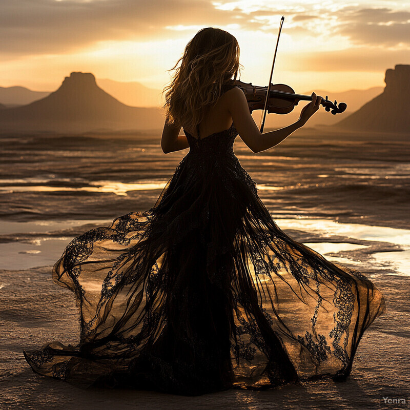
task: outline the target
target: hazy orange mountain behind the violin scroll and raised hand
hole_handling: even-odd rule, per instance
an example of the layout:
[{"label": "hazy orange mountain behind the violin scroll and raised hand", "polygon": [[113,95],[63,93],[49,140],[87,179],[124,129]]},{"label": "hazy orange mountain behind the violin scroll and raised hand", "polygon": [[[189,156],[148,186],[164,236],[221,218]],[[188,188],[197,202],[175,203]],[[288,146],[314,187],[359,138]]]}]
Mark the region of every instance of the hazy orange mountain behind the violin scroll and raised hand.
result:
[{"label": "hazy orange mountain behind the violin scroll and raised hand", "polygon": [[[331,113],[324,111],[324,108],[321,107],[320,110],[309,119],[309,122],[307,124],[308,127],[320,127],[321,125],[334,125],[339,122],[341,118],[355,112],[363,104],[367,103],[368,100],[371,100],[376,95],[380,94],[383,91],[383,87],[372,87],[367,90],[348,90],[336,93],[324,90],[312,91],[315,91],[317,95],[320,95],[323,98],[325,98],[327,95],[332,101],[337,100],[338,103],[343,102],[347,104],[346,111],[337,115],[332,115]],[[301,94],[311,95],[312,91],[306,91]],[[300,101],[299,104],[289,114],[268,115],[265,122],[265,127],[280,128],[292,124],[292,122],[295,122],[299,118],[300,111],[306,104],[308,104],[308,101]],[[260,113],[261,111],[255,111],[255,114],[253,115],[257,125],[259,125]]]}]

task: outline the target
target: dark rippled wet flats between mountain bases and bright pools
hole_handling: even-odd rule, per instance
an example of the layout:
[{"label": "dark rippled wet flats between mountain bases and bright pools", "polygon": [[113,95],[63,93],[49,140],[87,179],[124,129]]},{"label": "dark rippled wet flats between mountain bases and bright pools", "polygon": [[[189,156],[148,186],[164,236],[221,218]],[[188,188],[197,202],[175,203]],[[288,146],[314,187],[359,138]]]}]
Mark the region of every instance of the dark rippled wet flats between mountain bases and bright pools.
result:
[{"label": "dark rippled wet flats between mountain bases and bright pools", "polygon": [[[0,218],[105,219],[152,207],[189,150],[164,155],[160,134],[0,137]],[[354,139],[354,140],[353,140]],[[259,154],[234,152],[275,217],[410,229],[407,141],[297,136]]]}]

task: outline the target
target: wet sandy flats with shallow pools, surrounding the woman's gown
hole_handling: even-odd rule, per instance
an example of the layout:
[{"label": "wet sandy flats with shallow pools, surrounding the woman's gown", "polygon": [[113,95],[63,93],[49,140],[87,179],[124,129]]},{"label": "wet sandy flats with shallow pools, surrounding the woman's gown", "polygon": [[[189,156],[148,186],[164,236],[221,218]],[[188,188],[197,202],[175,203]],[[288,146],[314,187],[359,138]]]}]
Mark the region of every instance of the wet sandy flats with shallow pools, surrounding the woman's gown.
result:
[{"label": "wet sandy flats with shallow pools, surrounding the woman's gown", "polygon": [[[351,376],[263,392],[199,397],[80,390],[34,374],[22,349],[78,341],[74,296],[51,280],[75,236],[149,209],[187,150],[164,155],[160,133],[0,136],[0,408],[408,408],[410,146],[405,134],[300,130],[236,156],[286,233],[353,267],[383,293],[386,312],[364,333]],[[383,399],[384,397],[384,399]],[[388,403],[386,398],[405,400]]]}]

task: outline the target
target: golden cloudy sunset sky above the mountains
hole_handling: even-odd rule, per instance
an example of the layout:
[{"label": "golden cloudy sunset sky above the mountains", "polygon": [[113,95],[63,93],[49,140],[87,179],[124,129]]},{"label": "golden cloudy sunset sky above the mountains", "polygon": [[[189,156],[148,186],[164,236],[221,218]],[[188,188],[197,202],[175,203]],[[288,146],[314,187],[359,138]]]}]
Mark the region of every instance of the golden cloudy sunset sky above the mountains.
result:
[{"label": "golden cloudy sunset sky above the mountains", "polygon": [[56,90],[72,71],[162,89],[203,27],[238,39],[241,79],[296,92],[384,85],[410,64],[410,1],[2,0],[0,86]]}]

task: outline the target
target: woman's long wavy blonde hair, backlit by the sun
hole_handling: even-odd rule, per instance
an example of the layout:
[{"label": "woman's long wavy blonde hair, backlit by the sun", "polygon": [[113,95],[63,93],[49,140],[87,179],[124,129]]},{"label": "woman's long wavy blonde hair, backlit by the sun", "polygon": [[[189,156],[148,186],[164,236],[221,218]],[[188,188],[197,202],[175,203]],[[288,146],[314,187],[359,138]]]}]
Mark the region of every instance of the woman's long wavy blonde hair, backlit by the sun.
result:
[{"label": "woman's long wavy blonde hair, backlit by the sun", "polygon": [[227,31],[212,27],[198,31],[169,70],[175,72],[162,92],[166,93],[167,123],[195,130],[216,104],[223,86],[237,79],[239,53],[236,38]]}]

